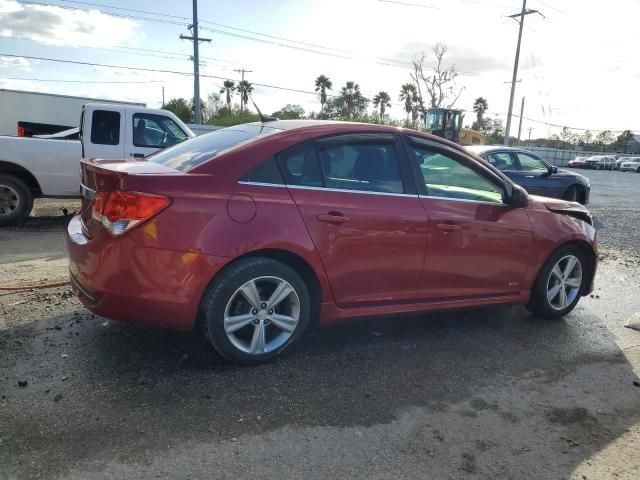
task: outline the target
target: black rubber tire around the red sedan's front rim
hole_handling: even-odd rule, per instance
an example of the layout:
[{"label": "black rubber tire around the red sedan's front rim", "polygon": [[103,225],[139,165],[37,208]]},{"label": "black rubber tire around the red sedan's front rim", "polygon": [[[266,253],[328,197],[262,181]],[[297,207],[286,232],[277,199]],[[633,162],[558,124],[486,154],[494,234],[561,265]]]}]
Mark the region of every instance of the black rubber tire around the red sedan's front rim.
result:
[{"label": "black rubber tire around the red sedan's front rim", "polygon": [[[582,279],[579,290],[574,299],[566,306],[566,308],[558,309],[551,305],[547,298],[547,286],[550,281],[551,270],[563,258],[572,255],[578,259],[582,268]],[[544,263],[531,289],[531,297],[526,308],[533,314],[543,318],[560,318],[565,316],[575,308],[583,296],[585,288],[587,288],[587,280],[590,278],[590,263],[584,251],[574,245],[566,245],[556,250]]]}]

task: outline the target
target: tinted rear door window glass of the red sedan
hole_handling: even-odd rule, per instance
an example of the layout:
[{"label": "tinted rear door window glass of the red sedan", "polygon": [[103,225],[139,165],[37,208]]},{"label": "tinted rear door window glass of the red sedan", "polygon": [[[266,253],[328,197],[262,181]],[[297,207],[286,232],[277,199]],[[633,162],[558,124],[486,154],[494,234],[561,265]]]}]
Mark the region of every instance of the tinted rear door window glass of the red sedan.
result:
[{"label": "tinted rear door window glass of the red sedan", "polygon": [[325,187],[381,193],[403,193],[402,177],[391,143],[320,145]]}]

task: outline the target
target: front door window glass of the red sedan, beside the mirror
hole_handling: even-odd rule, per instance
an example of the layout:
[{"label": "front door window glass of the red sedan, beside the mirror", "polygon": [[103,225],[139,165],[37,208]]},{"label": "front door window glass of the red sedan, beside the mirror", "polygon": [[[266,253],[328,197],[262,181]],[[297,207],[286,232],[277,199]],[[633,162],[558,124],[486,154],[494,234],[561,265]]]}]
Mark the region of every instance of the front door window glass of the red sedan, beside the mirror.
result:
[{"label": "front door window glass of the red sedan, beside the mirror", "polygon": [[468,166],[428,147],[411,150],[428,196],[502,203],[502,190]]}]

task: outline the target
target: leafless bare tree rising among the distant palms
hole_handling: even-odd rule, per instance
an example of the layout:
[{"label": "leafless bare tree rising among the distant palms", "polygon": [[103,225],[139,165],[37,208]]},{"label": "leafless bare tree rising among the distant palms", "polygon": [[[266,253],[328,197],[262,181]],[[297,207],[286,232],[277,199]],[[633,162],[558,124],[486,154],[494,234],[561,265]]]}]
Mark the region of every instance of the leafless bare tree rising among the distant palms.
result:
[{"label": "leafless bare tree rising among the distant palms", "polygon": [[455,65],[445,67],[443,65],[444,56],[447,53],[447,46],[441,43],[432,49],[436,58],[436,63],[431,67],[431,71],[425,72],[425,55],[422,53],[420,58],[413,61],[413,72],[411,78],[418,86],[418,92],[422,97],[420,84],[422,83],[429,95],[430,105],[432,108],[452,108],[458,101],[464,87],[458,90],[456,79],[458,71]]}]

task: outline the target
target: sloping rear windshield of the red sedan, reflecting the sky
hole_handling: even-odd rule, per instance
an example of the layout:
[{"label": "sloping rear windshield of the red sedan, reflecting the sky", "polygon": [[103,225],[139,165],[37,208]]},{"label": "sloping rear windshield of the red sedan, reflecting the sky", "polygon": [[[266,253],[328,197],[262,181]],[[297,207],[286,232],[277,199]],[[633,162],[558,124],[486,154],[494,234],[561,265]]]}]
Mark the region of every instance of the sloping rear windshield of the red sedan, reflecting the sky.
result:
[{"label": "sloping rear windshield of the red sedan, reflecting the sky", "polygon": [[207,133],[148,157],[150,162],[188,172],[230,148],[279,132],[264,125],[237,125]]}]

